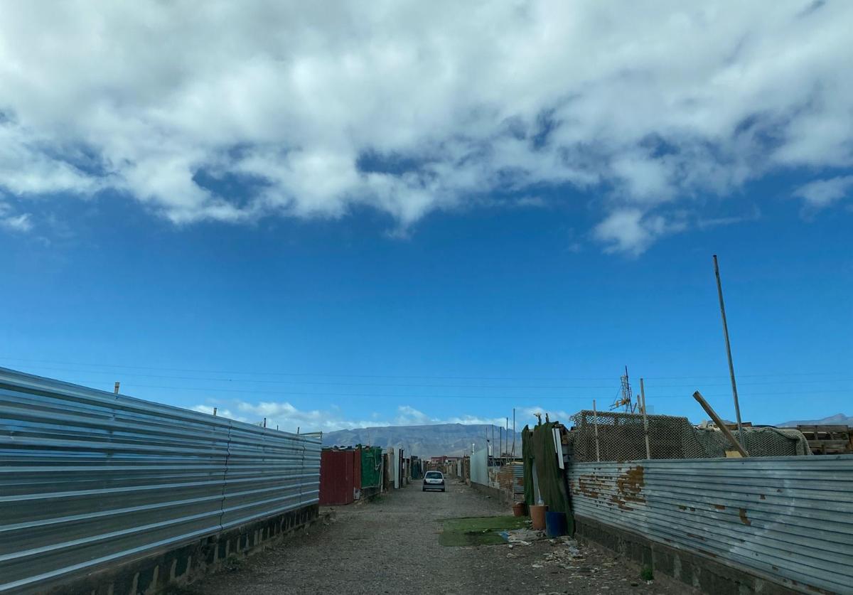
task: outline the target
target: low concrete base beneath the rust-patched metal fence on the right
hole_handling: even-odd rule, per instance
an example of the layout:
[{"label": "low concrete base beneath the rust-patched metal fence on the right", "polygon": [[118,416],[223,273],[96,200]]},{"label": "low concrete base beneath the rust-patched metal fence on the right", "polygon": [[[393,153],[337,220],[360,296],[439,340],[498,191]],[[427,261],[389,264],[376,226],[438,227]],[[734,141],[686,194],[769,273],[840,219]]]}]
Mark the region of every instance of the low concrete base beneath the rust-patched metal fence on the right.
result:
[{"label": "low concrete base beneath the rust-patched metal fence on the right", "polygon": [[678,581],[713,595],[793,595],[786,586],[769,577],[719,563],[698,553],[685,552],[649,540],[640,534],[618,529],[586,517],[575,517],[575,538],[592,541],[641,566],[655,575],[670,575]]}]

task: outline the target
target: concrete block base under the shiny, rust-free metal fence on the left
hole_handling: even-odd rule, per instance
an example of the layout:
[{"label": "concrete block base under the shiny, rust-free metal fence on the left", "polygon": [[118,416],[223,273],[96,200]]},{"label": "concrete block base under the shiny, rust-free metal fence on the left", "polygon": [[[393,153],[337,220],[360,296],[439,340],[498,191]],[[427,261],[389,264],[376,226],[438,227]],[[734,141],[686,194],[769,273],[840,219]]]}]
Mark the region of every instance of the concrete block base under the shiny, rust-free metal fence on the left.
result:
[{"label": "concrete block base under the shiny, rust-free metal fence on the left", "polygon": [[284,535],[316,523],[319,506],[248,523],[221,534],[99,570],[46,591],[90,595],[154,595],[167,586],[183,586],[235,563],[242,557],[274,545]]}]

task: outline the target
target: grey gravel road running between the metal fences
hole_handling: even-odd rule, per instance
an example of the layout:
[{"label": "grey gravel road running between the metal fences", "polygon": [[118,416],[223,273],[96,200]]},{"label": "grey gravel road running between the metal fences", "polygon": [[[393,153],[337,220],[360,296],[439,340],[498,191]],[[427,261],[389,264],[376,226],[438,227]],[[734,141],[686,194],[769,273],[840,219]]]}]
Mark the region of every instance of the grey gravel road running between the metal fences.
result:
[{"label": "grey gravel road running between the metal fences", "polygon": [[[173,593],[688,593],[680,583],[639,580],[633,563],[581,547],[569,568],[549,562],[566,546],[438,545],[442,518],[508,514],[493,499],[452,480],[448,491],[422,493],[413,483],[363,505],[335,509],[316,526],[235,568]],[[552,554],[548,556],[548,554]]]}]

